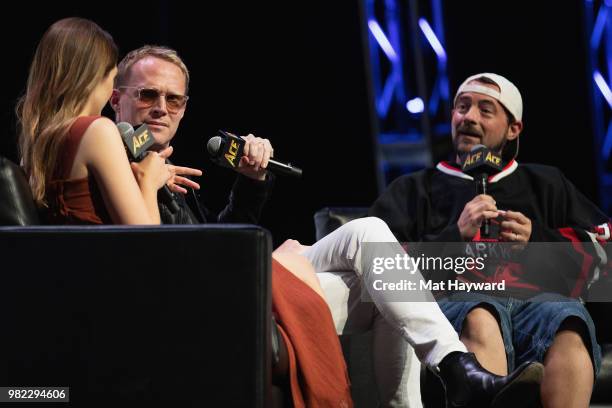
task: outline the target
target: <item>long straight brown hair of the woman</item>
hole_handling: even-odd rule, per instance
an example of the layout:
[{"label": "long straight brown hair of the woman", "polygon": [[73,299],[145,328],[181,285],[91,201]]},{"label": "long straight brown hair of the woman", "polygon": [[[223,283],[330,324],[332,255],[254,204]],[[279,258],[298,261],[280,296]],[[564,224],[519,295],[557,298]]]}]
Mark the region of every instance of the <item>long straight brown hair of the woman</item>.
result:
[{"label": "long straight brown hair of the woman", "polygon": [[16,108],[21,163],[38,205],[46,205],[62,140],[117,57],[110,34],[83,18],[54,23],[40,40]]}]

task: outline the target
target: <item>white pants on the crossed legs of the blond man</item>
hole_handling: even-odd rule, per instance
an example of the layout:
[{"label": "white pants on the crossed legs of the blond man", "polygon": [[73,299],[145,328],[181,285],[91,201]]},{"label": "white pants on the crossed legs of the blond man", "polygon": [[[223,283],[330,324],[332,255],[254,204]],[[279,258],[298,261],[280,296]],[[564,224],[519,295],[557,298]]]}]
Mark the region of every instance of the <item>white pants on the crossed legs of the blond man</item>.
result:
[{"label": "white pants on the crossed legs of the blond man", "polygon": [[[383,406],[421,407],[420,366],[453,351],[467,351],[435,301],[388,302],[373,289],[372,262],[362,262],[363,243],[395,243],[377,256],[403,251],[382,220],[360,218],[317,241],[304,255],[318,272],[338,334],[373,331],[374,375]],[[417,277],[420,277],[418,273]],[[372,302],[361,301],[365,288]],[[416,354],[416,355],[415,355]]]}]

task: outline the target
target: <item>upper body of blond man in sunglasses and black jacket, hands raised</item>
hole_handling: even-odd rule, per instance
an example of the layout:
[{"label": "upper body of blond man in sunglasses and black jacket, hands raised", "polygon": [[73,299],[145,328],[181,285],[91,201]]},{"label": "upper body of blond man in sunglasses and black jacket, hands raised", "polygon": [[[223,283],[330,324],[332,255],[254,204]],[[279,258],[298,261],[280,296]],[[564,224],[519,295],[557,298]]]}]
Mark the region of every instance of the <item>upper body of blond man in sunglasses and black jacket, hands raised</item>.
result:
[{"label": "upper body of blond man in sunglasses and black jacket, hands raised", "polygon": [[[173,49],[145,45],[129,52],[118,65],[111,106],[116,122],[147,124],[155,138],[154,150],[170,145],[185,114],[189,100],[189,70]],[[269,195],[271,180],[266,167],[273,155],[267,139],[245,136],[245,156],[238,166],[239,177],[230,196],[230,204],[213,215],[201,206],[193,189],[200,186],[189,176],[200,176],[197,169],[170,166],[175,174],[169,185],[179,211],[160,203],[160,215],[166,224],[202,222],[244,222],[256,224]]]}]

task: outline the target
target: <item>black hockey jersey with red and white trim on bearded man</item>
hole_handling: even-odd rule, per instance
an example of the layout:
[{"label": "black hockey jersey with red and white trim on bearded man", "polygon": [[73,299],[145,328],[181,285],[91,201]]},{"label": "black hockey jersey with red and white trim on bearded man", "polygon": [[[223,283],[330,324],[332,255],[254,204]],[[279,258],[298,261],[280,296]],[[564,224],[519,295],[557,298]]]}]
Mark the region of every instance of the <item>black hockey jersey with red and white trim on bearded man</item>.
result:
[{"label": "black hockey jersey with red and white trim on bearded man", "polygon": [[[471,176],[453,163],[441,162],[436,168],[393,181],[369,213],[383,219],[400,242],[461,242],[457,221],[476,194],[476,183]],[[520,265],[508,264],[499,268],[494,277],[472,273],[464,274],[462,279],[504,279],[511,288],[555,290],[579,296],[596,268],[606,262],[590,244],[599,240],[610,252],[611,245],[603,243],[610,240],[609,217],[578,191],[559,169],[545,165],[509,162],[500,173],[489,177],[488,194],[500,210],[519,211],[531,220],[531,242],[565,242],[564,248],[571,248],[563,256],[543,264],[547,282],[551,280],[550,274],[559,273],[551,262],[575,265],[573,274],[580,278],[570,279],[572,283],[567,284],[568,280],[559,276],[556,280],[559,287],[542,287],[541,275],[530,275]]]}]

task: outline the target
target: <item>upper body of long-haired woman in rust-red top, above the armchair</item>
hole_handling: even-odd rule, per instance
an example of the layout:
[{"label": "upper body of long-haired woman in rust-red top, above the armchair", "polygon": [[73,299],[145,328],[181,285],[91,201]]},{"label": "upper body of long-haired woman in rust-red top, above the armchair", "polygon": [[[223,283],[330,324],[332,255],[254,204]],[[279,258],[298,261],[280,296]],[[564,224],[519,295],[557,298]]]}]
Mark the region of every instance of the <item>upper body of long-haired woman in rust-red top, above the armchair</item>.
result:
[{"label": "upper body of long-haired woman in rust-red top, above the armchair", "polygon": [[19,150],[36,203],[53,224],[159,224],[157,190],[171,178],[169,147],[130,165],[115,124],[101,116],[118,50],[82,18],[43,35],[17,104]]}]

